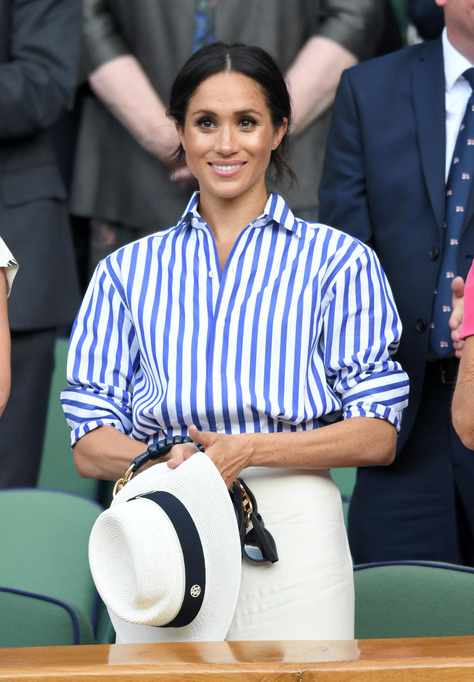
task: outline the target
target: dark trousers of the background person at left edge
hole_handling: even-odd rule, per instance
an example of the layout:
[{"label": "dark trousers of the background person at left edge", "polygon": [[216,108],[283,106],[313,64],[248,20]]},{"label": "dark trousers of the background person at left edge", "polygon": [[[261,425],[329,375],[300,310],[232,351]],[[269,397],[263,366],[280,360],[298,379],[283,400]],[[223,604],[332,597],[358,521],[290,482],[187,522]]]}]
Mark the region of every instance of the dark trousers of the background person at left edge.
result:
[{"label": "dark trousers of the background person at left edge", "polygon": [[0,488],[36,485],[56,330],[12,331],[11,336],[12,388],[0,417]]}]

